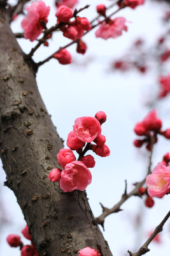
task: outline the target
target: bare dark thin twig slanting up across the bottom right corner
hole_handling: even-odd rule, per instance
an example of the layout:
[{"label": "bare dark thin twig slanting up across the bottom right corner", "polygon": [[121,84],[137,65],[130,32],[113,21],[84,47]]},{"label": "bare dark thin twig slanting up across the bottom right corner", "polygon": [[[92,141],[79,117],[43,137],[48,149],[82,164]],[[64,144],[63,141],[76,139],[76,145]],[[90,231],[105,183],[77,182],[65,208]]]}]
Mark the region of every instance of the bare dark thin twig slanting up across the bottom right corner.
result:
[{"label": "bare dark thin twig slanting up across the bottom right corner", "polygon": [[163,230],[163,226],[166,223],[166,221],[168,220],[168,218],[170,217],[170,211],[166,214],[164,220],[162,220],[160,222],[160,224],[155,228],[154,232],[152,233],[152,235],[148,238],[148,240],[143,244],[143,246],[141,246],[141,248],[139,249],[138,252],[136,253],[132,253],[129,250],[127,251],[129,253],[130,256],[141,256],[143,254],[145,254],[146,252],[149,252],[150,249],[148,248],[148,245],[152,242],[152,240],[154,239],[155,236],[157,236],[157,234],[159,234],[159,232],[161,232]]}]

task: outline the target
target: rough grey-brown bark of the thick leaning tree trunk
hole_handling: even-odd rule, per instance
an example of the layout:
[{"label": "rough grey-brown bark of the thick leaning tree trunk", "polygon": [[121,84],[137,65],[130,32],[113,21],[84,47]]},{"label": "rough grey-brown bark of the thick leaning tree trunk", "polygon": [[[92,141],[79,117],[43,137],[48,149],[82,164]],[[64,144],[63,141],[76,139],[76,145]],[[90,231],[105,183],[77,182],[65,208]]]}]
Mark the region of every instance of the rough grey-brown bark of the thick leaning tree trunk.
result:
[{"label": "rough grey-brown bark of the thick leaning tree trunk", "polygon": [[50,170],[59,167],[56,154],[62,140],[39,95],[34,67],[24,61],[2,6],[0,45],[1,159],[6,185],[17,196],[39,255],[78,255],[81,248],[99,244],[103,255],[111,256],[85,191],[63,193],[48,180]]}]

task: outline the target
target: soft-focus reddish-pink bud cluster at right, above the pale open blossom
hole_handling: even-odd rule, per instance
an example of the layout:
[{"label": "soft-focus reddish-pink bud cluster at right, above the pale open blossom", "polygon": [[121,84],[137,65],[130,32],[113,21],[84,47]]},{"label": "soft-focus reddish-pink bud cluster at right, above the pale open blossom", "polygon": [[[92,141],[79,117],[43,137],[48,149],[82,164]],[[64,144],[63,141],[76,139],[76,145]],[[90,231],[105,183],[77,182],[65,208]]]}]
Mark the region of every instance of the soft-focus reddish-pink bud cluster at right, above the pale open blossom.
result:
[{"label": "soft-focus reddish-pink bud cluster at right, above the pale open blossom", "polygon": [[140,148],[146,144],[146,149],[151,150],[152,143],[157,142],[157,134],[160,134],[170,140],[170,129],[162,131],[162,121],[157,118],[157,111],[153,109],[148,115],[134,127],[134,132],[138,136],[143,136],[142,140],[134,140],[134,146]]}]

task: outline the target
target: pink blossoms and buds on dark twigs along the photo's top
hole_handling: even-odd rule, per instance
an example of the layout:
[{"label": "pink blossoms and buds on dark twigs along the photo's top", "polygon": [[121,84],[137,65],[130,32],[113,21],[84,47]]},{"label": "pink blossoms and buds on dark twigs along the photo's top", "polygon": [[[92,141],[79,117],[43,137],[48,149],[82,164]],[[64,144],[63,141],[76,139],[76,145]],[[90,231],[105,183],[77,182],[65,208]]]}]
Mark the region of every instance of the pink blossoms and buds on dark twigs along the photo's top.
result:
[{"label": "pink blossoms and buds on dark twigs along the photo's top", "polygon": [[[80,54],[85,54],[87,51],[87,45],[82,40],[82,36],[89,32],[92,28],[99,26],[99,29],[96,31],[96,36],[104,38],[105,40],[108,38],[117,38],[121,36],[123,31],[127,31],[126,19],[124,17],[117,17],[115,19],[111,19],[110,16],[106,16],[106,6],[104,4],[97,5],[97,13],[100,16],[104,17],[104,20],[92,26],[91,24],[97,20],[92,20],[90,23],[86,17],[79,17],[78,13],[80,13],[85,8],[88,8],[89,5],[86,5],[84,8],[80,10],[74,10],[74,6],[78,3],[78,0],[55,0],[55,6],[57,7],[57,12],[55,16],[57,17],[57,22],[55,26],[51,28],[47,28],[46,24],[48,22],[48,15],[50,12],[50,7],[46,6],[43,1],[34,1],[31,3],[31,6],[27,6],[25,8],[27,12],[27,16],[22,20],[21,26],[24,29],[24,37],[26,39],[38,40],[38,44],[32,48],[31,52],[28,54],[29,58],[32,57],[34,52],[38,49],[38,47],[43,44],[48,47],[49,42],[48,39],[52,37],[54,31],[62,31],[62,35],[66,38],[73,40],[70,44],[65,45],[64,47],[60,47],[58,51],[54,54],[46,58],[44,61],[40,61],[38,67],[43,65],[46,61],[49,61],[52,58],[55,58],[62,65],[67,65],[72,63],[71,54],[66,48],[69,45],[76,43],[76,52]],[[124,8],[125,6],[129,6],[131,8],[136,8],[136,6],[143,4],[144,0],[121,0],[118,1],[118,10],[113,14]],[[110,8],[110,6],[108,7]],[[41,39],[38,39],[38,36],[43,32],[43,36]]]}]

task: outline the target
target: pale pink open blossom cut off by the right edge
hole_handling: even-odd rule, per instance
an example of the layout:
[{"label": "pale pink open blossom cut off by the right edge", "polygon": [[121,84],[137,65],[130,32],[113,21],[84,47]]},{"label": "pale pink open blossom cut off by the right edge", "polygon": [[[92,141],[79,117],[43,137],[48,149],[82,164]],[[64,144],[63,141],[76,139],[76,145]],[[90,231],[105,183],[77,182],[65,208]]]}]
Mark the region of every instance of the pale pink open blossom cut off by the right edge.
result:
[{"label": "pale pink open blossom cut off by the right edge", "polygon": [[170,166],[162,163],[157,164],[152,174],[146,177],[148,194],[153,197],[162,197],[170,192]]}]

